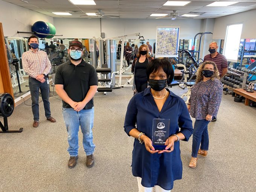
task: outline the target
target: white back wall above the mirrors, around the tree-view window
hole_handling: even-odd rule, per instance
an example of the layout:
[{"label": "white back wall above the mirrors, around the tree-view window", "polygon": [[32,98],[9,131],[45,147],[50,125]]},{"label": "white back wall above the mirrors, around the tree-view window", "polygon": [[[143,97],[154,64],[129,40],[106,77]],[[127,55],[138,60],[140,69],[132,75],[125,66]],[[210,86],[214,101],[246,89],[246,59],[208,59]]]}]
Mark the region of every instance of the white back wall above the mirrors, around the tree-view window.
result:
[{"label": "white back wall above the mirrors, around the tree-view window", "polygon": [[[96,38],[100,37],[100,20],[87,18],[53,18],[56,31],[63,38]],[[145,39],[155,39],[157,26],[180,26],[180,38],[192,39],[200,32],[200,19],[117,19],[102,18],[102,32],[105,37],[116,37],[125,34],[140,33]]]}]

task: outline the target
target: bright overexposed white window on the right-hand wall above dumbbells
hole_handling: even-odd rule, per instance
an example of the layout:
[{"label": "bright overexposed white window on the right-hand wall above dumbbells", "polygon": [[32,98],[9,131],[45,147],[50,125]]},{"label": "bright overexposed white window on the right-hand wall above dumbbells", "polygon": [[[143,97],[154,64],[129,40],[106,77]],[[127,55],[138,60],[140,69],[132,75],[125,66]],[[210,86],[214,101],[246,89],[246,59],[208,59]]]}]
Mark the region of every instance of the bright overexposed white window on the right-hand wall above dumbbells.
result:
[{"label": "bright overexposed white window on the right-hand wall above dumbbells", "polygon": [[228,61],[237,62],[243,24],[227,26],[223,54]]}]

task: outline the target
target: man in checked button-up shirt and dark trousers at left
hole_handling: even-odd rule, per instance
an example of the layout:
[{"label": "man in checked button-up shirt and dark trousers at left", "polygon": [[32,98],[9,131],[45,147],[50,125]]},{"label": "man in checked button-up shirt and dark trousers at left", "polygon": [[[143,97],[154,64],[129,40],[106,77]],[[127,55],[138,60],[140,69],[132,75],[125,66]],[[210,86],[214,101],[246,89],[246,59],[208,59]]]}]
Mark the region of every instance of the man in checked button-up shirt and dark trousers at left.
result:
[{"label": "man in checked button-up shirt and dark trousers at left", "polygon": [[56,120],[51,116],[49,102],[49,80],[47,74],[52,66],[46,52],[38,50],[38,38],[34,35],[29,37],[29,51],[22,54],[22,65],[24,71],[29,75],[29,89],[32,100],[32,112],[34,115],[33,126],[39,124],[39,89],[44,103],[46,119],[55,123]]}]

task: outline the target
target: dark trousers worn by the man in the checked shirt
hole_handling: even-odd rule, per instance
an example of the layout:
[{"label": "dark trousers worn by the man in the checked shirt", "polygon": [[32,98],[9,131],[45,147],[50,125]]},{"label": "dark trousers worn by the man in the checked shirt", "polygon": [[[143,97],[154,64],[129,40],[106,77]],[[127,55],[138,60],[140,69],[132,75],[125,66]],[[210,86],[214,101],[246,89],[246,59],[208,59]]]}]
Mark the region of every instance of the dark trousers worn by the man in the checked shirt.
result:
[{"label": "dark trousers worn by the man in the checked shirt", "polygon": [[40,81],[37,81],[37,79],[29,77],[29,89],[30,89],[31,100],[32,100],[32,112],[34,115],[34,121],[39,121],[39,105],[38,105],[39,88],[40,88],[41,96],[44,103],[45,116],[46,118],[51,116],[50,102],[49,102],[49,85],[47,84],[47,81],[45,81],[44,83],[41,83]]}]

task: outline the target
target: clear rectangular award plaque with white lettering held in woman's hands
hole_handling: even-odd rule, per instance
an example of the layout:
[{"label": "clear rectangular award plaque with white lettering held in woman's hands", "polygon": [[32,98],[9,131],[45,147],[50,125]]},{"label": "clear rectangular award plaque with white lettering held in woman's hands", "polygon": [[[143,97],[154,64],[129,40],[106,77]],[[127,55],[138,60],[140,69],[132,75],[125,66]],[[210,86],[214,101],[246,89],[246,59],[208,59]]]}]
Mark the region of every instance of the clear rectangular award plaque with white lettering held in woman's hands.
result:
[{"label": "clear rectangular award plaque with white lettering held in woman's hands", "polygon": [[156,150],[165,149],[169,138],[170,119],[153,119],[152,145]]}]

